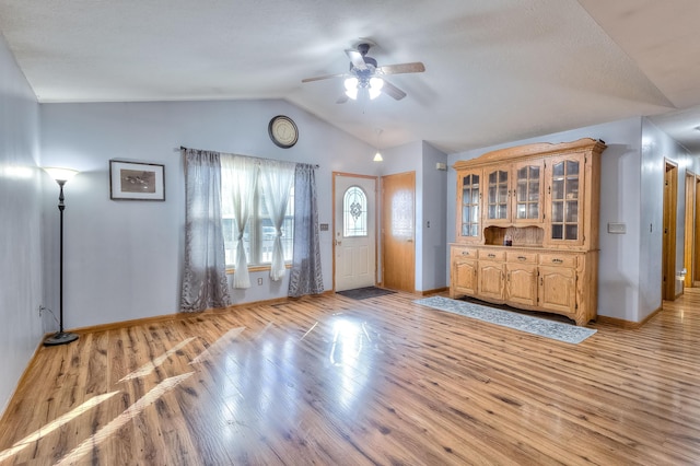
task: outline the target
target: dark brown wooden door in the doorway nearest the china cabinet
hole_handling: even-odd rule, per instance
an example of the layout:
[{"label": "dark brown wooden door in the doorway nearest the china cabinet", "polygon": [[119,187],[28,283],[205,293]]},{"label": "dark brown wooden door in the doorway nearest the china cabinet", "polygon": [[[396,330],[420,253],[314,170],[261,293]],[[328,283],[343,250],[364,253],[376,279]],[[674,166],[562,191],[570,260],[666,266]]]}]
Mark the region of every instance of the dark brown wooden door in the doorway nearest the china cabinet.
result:
[{"label": "dark brown wooden door in the doorway nearest the china cabinet", "polygon": [[676,299],[676,209],[678,207],[678,166],[666,161],[664,175],[664,231],[662,248],[662,299]]}]

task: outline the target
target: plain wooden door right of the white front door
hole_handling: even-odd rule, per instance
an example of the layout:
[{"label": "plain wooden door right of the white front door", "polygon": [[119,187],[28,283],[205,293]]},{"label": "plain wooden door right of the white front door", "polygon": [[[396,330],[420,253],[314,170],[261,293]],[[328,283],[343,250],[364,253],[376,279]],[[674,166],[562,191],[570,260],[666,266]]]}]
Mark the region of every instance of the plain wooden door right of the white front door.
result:
[{"label": "plain wooden door right of the white front door", "polygon": [[382,177],[382,282],[416,291],[416,172]]}]

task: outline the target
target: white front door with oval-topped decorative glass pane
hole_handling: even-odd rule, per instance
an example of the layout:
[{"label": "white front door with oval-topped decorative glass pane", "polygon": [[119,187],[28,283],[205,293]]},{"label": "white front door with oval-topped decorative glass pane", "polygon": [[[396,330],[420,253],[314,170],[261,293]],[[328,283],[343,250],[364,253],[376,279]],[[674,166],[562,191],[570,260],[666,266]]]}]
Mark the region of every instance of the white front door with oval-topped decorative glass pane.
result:
[{"label": "white front door with oval-topped decorative glass pane", "polygon": [[376,177],[334,173],[336,291],[376,280]]}]

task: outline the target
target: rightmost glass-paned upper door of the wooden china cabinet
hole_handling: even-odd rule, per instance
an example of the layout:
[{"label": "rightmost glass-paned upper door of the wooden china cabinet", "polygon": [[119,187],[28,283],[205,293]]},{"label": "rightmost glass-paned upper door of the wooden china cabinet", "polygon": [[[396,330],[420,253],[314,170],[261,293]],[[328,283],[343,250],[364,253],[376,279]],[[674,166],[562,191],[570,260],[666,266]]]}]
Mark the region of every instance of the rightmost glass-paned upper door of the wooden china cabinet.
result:
[{"label": "rightmost glass-paned upper door of the wooden china cabinet", "polygon": [[580,160],[553,160],[550,179],[550,240],[580,242]]}]

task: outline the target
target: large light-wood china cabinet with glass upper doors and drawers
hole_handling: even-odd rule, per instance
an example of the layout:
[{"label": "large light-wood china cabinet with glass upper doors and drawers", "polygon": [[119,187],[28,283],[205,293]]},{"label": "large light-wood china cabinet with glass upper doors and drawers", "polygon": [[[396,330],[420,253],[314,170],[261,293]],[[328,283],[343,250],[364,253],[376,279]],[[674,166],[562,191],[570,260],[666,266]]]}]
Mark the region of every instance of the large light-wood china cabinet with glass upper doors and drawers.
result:
[{"label": "large light-wood china cabinet with glass upper doors and drawers", "polygon": [[450,295],[594,319],[605,148],[586,138],[457,162]]}]

